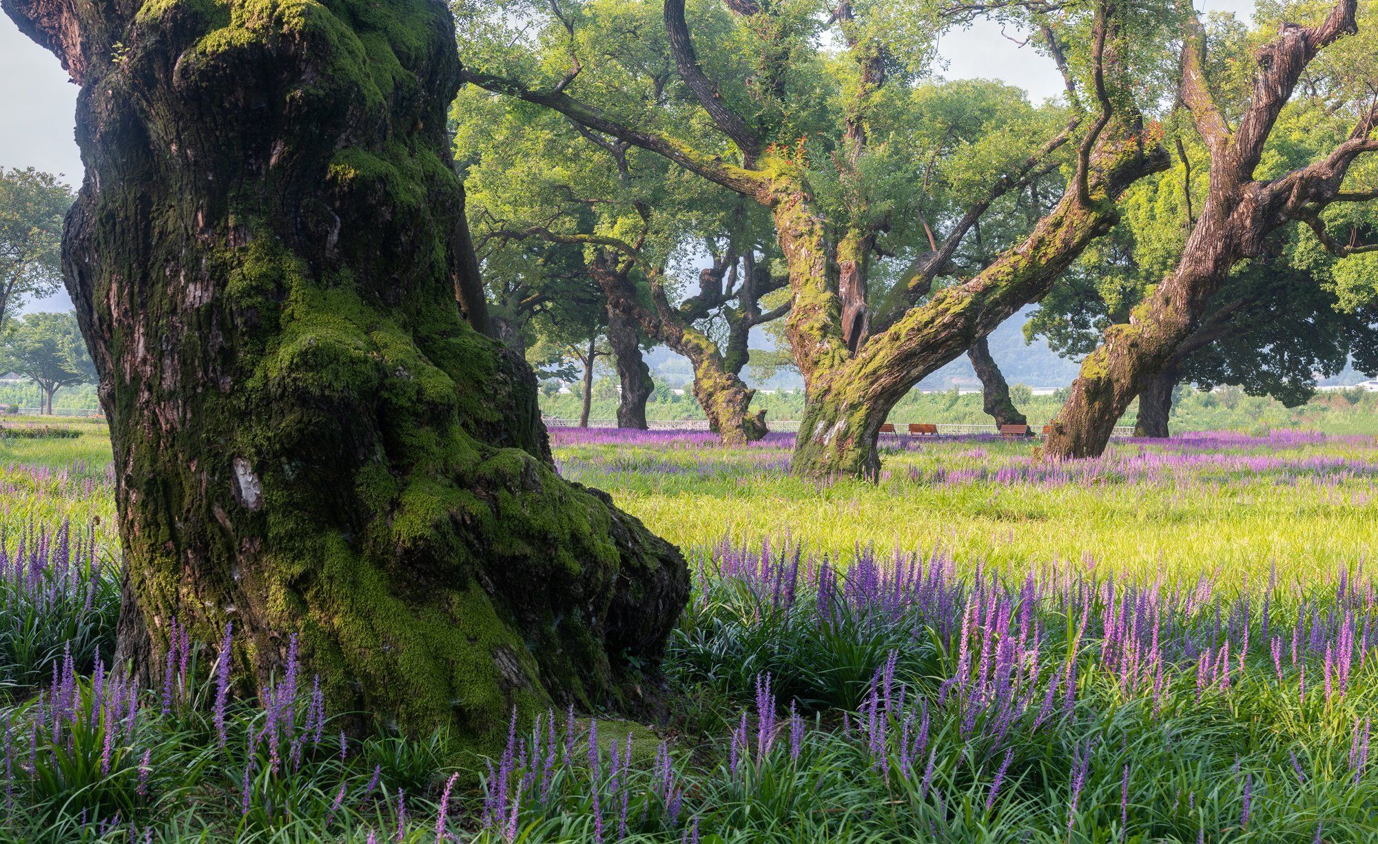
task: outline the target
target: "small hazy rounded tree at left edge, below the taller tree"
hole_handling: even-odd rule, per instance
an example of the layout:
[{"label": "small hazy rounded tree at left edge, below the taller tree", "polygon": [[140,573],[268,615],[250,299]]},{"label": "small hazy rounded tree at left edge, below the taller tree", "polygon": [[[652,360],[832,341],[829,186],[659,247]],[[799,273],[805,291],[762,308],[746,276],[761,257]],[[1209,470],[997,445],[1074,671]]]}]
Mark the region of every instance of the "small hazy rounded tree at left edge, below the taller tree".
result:
[{"label": "small hazy rounded tree at left edge, below the taller tree", "polygon": [[0,336],[0,370],[39,385],[43,390],[39,410],[50,415],[58,390],[95,381],[95,365],[72,312],[30,313],[11,321]]}]

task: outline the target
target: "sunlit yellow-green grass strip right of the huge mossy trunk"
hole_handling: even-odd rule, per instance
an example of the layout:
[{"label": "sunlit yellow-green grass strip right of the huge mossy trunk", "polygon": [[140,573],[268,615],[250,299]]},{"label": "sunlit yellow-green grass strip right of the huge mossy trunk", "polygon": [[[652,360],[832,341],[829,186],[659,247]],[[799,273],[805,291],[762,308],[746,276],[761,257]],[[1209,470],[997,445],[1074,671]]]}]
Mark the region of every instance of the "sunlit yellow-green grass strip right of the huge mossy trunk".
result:
[{"label": "sunlit yellow-green grass strip right of the huge mossy trunk", "polygon": [[[1355,563],[1378,549],[1371,477],[1182,470],[1131,479],[1111,472],[1065,485],[909,477],[911,470],[930,479],[940,469],[1029,469],[1036,466],[1034,451],[1027,441],[927,441],[918,451],[886,455],[887,477],[879,484],[790,477],[781,470],[787,452],[774,448],[564,445],[555,455],[566,476],[608,490],[652,530],[686,547],[725,536],[734,543],[788,536],[835,556],[870,545],[882,552],[944,550],[966,565],[985,561],[1005,570],[1096,560],[1104,570],[1135,574],[1220,570],[1236,581],[1273,564],[1310,572]],[[1107,461],[1158,451],[1116,444]],[[1378,465],[1372,439],[1239,452]],[[759,469],[763,459],[769,465]],[[649,470],[652,463],[683,472]],[[711,468],[711,477],[699,476],[703,468]]]}]

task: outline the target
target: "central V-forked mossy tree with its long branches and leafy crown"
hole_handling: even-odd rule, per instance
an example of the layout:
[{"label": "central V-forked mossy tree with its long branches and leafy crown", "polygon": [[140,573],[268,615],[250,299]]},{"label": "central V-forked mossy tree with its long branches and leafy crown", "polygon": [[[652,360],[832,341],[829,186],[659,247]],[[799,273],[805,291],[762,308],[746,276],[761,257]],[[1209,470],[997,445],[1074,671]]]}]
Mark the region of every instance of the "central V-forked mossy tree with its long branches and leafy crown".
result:
[{"label": "central V-forked mossy tree with its long branches and leafy crown", "polygon": [[[1050,114],[1029,113],[1027,103],[1022,114],[1003,114],[1002,130],[985,132],[1003,143],[988,149],[981,178],[970,182],[956,214],[940,223],[934,248],[916,251],[912,272],[896,281],[889,297],[871,284],[876,257],[894,252],[887,237],[903,230],[894,240],[912,241],[919,232],[932,232],[919,210],[894,201],[905,193],[898,181],[872,178],[925,171],[922,159],[890,159],[890,152],[907,146],[878,142],[876,134],[886,109],[904,102],[911,70],[922,65],[940,28],[926,17],[927,7],[841,3],[827,17],[831,32],[823,32],[819,17],[795,6],[733,1],[725,10],[704,7],[692,34],[683,0],[666,0],[663,43],[679,86],[667,84],[655,65],[642,72],[641,65],[624,62],[599,76],[595,57],[616,47],[605,39],[597,50],[584,50],[588,37],[573,23],[576,15],[553,14],[551,34],[540,41],[553,52],[539,62],[547,77],[550,68],[564,72],[550,84],[528,81],[520,66],[493,72],[492,65],[521,63],[504,48],[482,57],[489,68],[470,69],[467,79],[664,156],[768,208],[788,270],[787,334],[806,390],[792,468],[810,476],[874,476],[876,434],[894,403],[1043,295],[1086,243],[1113,222],[1119,193],[1166,164],[1126,95],[1129,66],[1138,52],[1119,50],[1122,41],[1152,32],[1135,26],[1137,12],[1093,6],[1094,11],[1067,7],[1067,14],[1058,7],[1047,32],[1049,51],[1062,66],[1069,66],[1062,40],[1084,37],[1094,47],[1084,62],[1082,51],[1071,54],[1073,63],[1084,63],[1094,103],[1075,109],[1071,120],[1054,119],[1061,128],[1051,125]],[[969,19],[976,12],[959,4],[945,14]],[[1061,36],[1053,23],[1064,29]],[[842,61],[825,57],[824,44],[834,43]],[[896,72],[901,66],[905,70]],[[634,81],[619,84],[627,77]],[[616,95],[605,97],[609,90]],[[703,128],[706,123],[711,130]],[[897,135],[912,134],[914,127],[900,128]],[[947,141],[937,143],[940,154],[945,146]],[[987,270],[930,297],[981,215],[1056,168],[1056,153],[1071,153],[1073,146],[1073,175],[1062,201]],[[904,188],[915,193],[912,182]]]}]

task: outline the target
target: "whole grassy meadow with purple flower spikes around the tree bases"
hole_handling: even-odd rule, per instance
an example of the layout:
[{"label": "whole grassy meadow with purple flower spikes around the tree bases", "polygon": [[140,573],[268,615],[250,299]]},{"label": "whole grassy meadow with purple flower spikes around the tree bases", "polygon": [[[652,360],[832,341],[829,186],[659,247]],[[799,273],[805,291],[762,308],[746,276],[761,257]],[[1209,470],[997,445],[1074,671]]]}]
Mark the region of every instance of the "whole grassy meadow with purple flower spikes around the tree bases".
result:
[{"label": "whole grassy meadow with purple flower spikes around the tree bases", "polygon": [[225,643],[132,687],[105,428],[23,422],[0,843],[1378,840],[1371,433],[896,439],[864,484],[791,477],[788,434],[557,430],[695,590],[661,712],[553,707],[475,760],[342,731],[295,667],[237,701]]}]

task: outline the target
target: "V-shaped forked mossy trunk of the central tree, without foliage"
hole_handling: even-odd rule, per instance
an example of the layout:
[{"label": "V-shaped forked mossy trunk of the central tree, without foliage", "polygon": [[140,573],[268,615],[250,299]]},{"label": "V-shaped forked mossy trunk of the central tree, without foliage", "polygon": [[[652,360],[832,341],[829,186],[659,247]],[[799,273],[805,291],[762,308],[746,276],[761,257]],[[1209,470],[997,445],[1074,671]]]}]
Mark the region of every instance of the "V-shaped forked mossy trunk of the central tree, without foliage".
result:
[{"label": "V-shaped forked mossy trunk of the central tree, without foliage", "polygon": [[790,261],[794,309],[790,339],[805,375],[805,416],[791,470],[806,477],[874,477],[876,434],[894,404],[938,367],[985,338],[1020,308],[1047,294],[1057,277],[1119,219],[1116,200],[1167,156],[1142,130],[1112,124],[1091,156],[1090,201],[1068,188],[1028,237],[970,281],[911,309],[852,354],[842,342],[821,228],[806,197],[776,208]]}]

